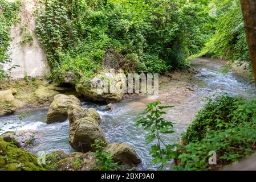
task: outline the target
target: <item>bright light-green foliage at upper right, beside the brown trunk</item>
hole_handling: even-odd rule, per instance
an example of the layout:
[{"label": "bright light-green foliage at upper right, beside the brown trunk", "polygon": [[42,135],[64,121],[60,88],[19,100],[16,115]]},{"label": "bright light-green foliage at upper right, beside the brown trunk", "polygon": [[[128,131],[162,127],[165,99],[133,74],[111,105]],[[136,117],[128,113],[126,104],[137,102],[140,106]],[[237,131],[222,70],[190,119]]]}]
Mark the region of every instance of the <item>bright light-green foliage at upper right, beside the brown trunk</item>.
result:
[{"label": "bright light-green foliage at upper right, beside the brown trunk", "polygon": [[197,56],[210,54],[225,60],[250,63],[246,42],[241,2],[239,0],[212,0],[216,4],[217,16],[213,17],[213,35]]}]

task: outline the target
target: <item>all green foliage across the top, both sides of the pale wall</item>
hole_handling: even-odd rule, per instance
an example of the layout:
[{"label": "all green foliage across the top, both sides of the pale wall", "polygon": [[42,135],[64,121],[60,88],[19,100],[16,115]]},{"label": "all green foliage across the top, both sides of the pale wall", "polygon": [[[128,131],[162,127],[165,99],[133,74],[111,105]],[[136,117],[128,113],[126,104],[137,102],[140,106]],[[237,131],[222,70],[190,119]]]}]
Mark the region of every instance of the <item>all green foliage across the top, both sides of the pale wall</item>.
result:
[{"label": "all green foliage across the top, both sides of the pale wall", "polygon": [[[18,9],[1,0],[1,63]],[[250,63],[239,0],[40,0],[36,34],[57,82],[110,67],[164,73],[205,55]]]}]

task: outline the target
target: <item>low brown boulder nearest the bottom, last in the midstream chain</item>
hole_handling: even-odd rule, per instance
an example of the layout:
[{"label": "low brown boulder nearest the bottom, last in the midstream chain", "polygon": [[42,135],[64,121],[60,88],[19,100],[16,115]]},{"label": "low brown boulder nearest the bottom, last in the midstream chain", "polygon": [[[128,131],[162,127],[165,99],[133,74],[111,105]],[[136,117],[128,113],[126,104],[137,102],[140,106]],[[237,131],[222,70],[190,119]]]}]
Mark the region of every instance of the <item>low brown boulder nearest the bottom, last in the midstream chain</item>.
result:
[{"label": "low brown boulder nearest the bottom, last in the midstream chain", "polygon": [[111,143],[106,147],[106,152],[113,155],[113,160],[128,167],[134,167],[141,163],[135,150],[125,143]]}]

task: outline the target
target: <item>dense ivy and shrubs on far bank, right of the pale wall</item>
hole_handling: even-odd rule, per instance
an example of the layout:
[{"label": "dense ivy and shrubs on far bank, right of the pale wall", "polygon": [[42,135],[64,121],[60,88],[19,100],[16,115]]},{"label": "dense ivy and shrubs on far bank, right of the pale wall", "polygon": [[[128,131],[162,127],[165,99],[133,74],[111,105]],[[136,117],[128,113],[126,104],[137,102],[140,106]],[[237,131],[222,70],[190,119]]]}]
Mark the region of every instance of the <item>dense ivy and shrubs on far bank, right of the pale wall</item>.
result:
[{"label": "dense ivy and shrubs on far bank, right of the pale wall", "polygon": [[145,73],[182,68],[202,44],[196,1],[42,0],[40,7],[36,33],[57,81],[68,71],[91,77],[104,67]]}]

